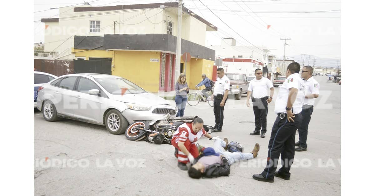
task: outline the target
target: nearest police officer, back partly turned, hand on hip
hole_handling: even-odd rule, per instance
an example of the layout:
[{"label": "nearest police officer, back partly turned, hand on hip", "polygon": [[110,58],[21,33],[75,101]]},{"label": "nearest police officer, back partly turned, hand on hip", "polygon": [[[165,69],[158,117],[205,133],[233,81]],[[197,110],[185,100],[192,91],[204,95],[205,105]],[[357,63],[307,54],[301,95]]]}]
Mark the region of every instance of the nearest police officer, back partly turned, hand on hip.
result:
[{"label": "nearest police officer, back partly turned, hand on hip", "polygon": [[[275,103],[275,113],[278,116],[273,124],[268,144],[267,166],[261,174],[253,175],[255,180],[273,183],[274,176],[284,180],[290,178],[296,130],[302,122],[300,113],[305,97],[305,86],[299,72],[300,64],[293,62],[288,65],[287,79],[280,86]],[[280,154],[282,167],[276,171]]]}]

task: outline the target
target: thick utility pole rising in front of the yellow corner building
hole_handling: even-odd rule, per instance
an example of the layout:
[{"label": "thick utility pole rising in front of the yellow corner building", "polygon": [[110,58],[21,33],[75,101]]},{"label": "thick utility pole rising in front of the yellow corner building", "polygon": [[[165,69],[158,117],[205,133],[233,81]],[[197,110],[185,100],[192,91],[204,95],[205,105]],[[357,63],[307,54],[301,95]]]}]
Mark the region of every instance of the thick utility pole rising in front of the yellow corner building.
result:
[{"label": "thick utility pole rising in front of the yellow corner building", "polygon": [[[176,46],[176,64],[175,64],[175,77],[174,83],[177,82],[180,75],[181,64],[181,27],[182,27],[182,0],[178,0],[178,13],[177,13],[177,46]],[[173,83],[173,84],[174,84]]]}]

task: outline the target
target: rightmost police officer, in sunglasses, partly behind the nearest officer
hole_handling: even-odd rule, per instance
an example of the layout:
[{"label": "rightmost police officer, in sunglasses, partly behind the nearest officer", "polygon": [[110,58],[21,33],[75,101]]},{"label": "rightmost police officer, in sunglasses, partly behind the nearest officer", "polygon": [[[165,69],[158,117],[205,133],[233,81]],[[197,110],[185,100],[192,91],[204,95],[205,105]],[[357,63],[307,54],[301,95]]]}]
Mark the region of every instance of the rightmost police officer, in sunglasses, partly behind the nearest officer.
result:
[{"label": "rightmost police officer, in sunglasses, partly behind the nearest officer", "polygon": [[311,120],[311,114],[314,111],[314,101],[315,98],[319,96],[319,83],[312,77],[312,72],[314,69],[311,66],[304,66],[302,68],[303,84],[306,87],[305,100],[302,106],[302,123],[298,129],[299,141],[296,142],[295,151],[306,151],[307,150],[307,130],[309,128],[309,123]]}]

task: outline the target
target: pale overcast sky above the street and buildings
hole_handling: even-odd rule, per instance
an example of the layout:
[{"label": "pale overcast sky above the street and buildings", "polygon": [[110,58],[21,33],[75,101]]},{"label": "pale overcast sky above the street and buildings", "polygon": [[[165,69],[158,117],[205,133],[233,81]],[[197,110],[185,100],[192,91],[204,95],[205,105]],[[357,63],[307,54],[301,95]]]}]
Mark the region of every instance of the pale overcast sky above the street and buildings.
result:
[{"label": "pale overcast sky above the street and buildings", "polygon": [[[34,0],[34,21],[58,18],[58,9],[50,8],[83,2]],[[97,0],[90,4],[114,6],[162,2],[177,0]],[[207,33],[206,45],[220,45],[219,37],[234,37],[237,45],[267,46],[271,50],[270,54],[282,59],[284,40],[280,38],[287,37],[291,40],[287,40],[286,58],[295,57],[295,60],[301,61],[301,54],[307,54],[305,57],[314,55],[318,57],[315,65],[332,67],[341,58],[341,3],[338,0],[184,0],[183,3],[217,26],[217,32]],[[267,25],[270,25],[268,30]],[[34,22],[34,42],[44,42],[43,29],[44,24]]]}]

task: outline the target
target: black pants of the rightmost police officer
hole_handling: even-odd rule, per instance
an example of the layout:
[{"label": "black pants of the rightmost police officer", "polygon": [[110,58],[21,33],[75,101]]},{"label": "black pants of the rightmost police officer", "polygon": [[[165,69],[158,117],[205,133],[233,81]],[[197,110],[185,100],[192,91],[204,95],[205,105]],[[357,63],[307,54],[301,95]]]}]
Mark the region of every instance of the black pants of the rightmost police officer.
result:
[{"label": "black pants of the rightmost police officer", "polygon": [[298,133],[299,133],[299,142],[300,142],[300,147],[302,148],[307,148],[307,130],[309,128],[309,123],[310,123],[310,120],[311,120],[311,114],[312,112],[314,111],[314,106],[310,106],[310,107],[307,107],[307,106],[303,106],[302,108],[302,123],[298,129]]}]

